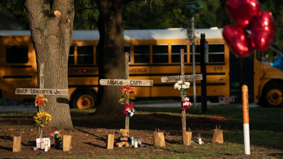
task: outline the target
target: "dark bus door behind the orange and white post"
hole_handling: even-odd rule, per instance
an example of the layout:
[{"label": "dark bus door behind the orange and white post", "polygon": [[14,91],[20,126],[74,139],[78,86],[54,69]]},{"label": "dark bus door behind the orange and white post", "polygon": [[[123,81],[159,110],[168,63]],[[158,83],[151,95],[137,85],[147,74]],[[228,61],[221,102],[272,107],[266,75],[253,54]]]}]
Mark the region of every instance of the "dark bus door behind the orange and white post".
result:
[{"label": "dark bus door behind the orange and white post", "polygon": [[[242,64],[242,67],[241,67]],[[242,102],[242,85],[248,86],[248,101],[253,103],[253,56],[241,58],[230,52],[230,96],[235,97],[235,103]]]}]

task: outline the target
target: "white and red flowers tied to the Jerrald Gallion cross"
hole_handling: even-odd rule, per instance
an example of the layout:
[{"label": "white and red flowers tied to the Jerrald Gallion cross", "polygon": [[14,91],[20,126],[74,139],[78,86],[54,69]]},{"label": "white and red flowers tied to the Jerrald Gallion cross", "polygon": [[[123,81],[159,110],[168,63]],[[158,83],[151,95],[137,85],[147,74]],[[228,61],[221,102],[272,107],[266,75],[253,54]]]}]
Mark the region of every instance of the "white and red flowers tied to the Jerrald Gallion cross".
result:
[{"label": "white and red flowers tied to the Jerrald Gallion cross", "polygon": [[182,97],[182,111],[191,107],[190,98],[187,97],[187,89],[190,88],[190,85],[191,83],[183,81],[178,81],[174,84],[174,88],[179,90],[180,97]]}]

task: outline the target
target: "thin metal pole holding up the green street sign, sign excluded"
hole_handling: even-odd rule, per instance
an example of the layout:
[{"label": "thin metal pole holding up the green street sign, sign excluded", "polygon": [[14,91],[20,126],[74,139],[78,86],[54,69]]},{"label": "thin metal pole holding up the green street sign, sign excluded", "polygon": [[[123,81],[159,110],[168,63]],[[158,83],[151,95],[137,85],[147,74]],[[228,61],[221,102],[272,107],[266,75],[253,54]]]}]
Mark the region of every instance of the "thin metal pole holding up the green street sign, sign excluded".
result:
[{"label": "thin metal pole holding up the green street sign, sign excluded", "polygon": [[[191,20],[191,27],[192,27],[192,32],[191,32],[191,39],[192,39],[192,50],[193,50],[193,74],[195,74],[195,13],[194,9],[191,9],[192,12],[192,20]],[[195,81],[193,81],[193,94],[194,94],[194,107],[196,108],[196,88],[195,88]]]}]

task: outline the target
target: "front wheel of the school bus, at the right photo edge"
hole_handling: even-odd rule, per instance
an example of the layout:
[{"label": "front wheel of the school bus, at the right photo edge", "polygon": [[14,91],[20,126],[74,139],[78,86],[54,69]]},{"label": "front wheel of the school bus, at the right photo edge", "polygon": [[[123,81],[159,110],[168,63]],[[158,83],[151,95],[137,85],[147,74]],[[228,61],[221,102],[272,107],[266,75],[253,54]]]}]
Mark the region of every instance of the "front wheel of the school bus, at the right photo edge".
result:
[{"label": "front wheel of the school bus, at the right photo edge", "polygon": [[283,107],[283,87],[278,84],[265,87],[262,98],[264,107]]}]

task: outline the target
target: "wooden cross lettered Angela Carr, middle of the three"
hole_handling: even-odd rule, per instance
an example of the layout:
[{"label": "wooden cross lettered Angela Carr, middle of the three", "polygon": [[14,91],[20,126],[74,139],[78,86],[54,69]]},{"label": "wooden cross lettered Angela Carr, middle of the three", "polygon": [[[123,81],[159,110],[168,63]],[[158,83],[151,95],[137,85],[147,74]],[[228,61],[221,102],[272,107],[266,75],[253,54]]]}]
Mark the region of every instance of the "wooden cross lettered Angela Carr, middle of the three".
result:
[{"label": "wooden cross lettered Angela Carr, middle of the three", "polygon": [[[125,52],[125,78],[126,79],[100,79],[100,85],[130,85],[130,86],[153,86],[153,80],[129,80],[129,53]],[[125,119],[125,129],[129,129],[129,117]]]}]

